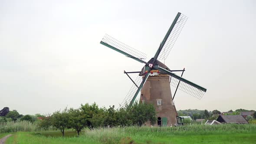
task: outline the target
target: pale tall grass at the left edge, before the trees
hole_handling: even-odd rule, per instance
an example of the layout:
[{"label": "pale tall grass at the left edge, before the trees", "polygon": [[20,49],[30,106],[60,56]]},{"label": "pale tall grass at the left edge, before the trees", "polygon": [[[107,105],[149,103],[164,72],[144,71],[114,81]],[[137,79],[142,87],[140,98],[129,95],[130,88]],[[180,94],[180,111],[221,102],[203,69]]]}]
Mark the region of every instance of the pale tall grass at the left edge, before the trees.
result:
[{"label": "pale tall grass at the left edge, before the trees", "polygon": [[[50,130],[56,130],[55,128],[49,128]],[[17,132],[17,131],[27,131],[27,132],[35,132],[35,131],[45,131],[42,128],[39,128],[36,123],[31,123],[30,121],[20,121],[20,122],[7,122],[0,123],[0,133],[7,132]]]}]

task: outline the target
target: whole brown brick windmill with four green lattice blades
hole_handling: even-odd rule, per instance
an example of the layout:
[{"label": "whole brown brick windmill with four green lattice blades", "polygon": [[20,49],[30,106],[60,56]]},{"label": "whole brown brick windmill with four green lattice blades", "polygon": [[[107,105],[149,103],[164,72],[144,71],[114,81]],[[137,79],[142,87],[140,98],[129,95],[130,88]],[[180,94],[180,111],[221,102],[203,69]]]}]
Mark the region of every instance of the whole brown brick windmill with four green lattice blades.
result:
[{"label": "whole brown brick windmill with four green lattice blades", "polygon": [[[177,89],[186,92],[195,98],[201,99],[203,94],[206,92],[206,88],[203,88],[187,79],[182,78],[183,70],[171,70],[164,65],[160,60],[165,60],[169,55],[172,47],[174,46],[177,37],[181,33],[184,24],[187,21],[187,16],[177,13],[171,27],[168,29],[167,34],[164,36],[163,41],[157,49],[154,57],[148,62],[145,62],[146,54],[136,49],[131,48],[124,43],[121,43],[117,39],[114,39],[107,34],[103,37],[100,42],[102,45],[107,46],[117,52],[124,54],[125,56],[135,59],[138,62],[144,63],[144,67],[138,72],[125,72],[126,75],[129,73],[139,73],[138,77],[131,79],[133,85],[126,95],[125,99],[120,104],[123,107],[126,103],[132,105],[135,101],[139,92],[141,92],[140,102],[151,103],[156,108],[158,125],[167,126],[178,124],[181,118],[178,117],[177,111],[174,105],[174,97]],[[176,75],[174,72],[182,72],[181,76]],[[170,85],[176,88],[174,96],[171,95]]]}]

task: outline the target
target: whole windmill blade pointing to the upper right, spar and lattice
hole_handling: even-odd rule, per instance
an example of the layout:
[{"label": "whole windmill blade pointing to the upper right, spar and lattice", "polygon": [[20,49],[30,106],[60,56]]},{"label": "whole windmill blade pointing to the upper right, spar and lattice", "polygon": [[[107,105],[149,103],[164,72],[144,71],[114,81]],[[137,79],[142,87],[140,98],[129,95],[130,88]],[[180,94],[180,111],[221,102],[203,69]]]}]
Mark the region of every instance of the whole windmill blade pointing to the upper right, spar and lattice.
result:
[{"label": "whole windmill blade pointing to the upper right, spar and lattice", "polygon": [[158,60],[165,60],[167,58],[172,47],[174,46],[174,43],[176,42],[178,36],[180,35],[181,30],[184,27],[186,21],[187,16],[181,13],[177,14],[173,23],[171,24],[171,27],[169,28],[167,34],[165,35],[163,41],[161,42],[159,51],[157,53],[158,56],[156,57]]}]

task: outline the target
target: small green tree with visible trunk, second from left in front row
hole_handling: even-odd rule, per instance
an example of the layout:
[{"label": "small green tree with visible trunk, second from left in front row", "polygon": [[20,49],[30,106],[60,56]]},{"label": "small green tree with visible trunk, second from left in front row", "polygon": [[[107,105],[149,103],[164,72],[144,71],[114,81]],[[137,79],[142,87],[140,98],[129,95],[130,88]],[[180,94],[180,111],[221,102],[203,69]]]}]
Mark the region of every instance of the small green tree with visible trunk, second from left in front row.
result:
[{"label": "small green tree with visible trunk, second from left in front row", "polygon": [[79,137],[80,131],[86,127],[86,118],[82,109],[69,109],[69,126],[74,128]]}]

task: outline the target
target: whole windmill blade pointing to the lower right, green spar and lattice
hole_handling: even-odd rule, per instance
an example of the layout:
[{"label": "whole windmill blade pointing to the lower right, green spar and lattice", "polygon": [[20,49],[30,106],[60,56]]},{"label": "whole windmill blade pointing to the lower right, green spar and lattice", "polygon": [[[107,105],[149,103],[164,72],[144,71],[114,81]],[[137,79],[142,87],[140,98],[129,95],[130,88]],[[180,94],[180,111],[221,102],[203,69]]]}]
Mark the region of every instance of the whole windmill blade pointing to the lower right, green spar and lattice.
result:
[{"label": "whole windmill blade pointing to the lower right, green spar and lattice", "polygon": [[172,86],[177,87],[178,83],[180,83],[178,89],[180,89],[183,92],[186,92],[189,95],[194,96],[195,98],[201,99],[203,97],[203,94],[207,91],[206,88],[203,88],[193,82],[190,82],[187,79],[184,79],[164,68],[159,67],[159,70],[164,71],[171,76],[170,84]]}]

